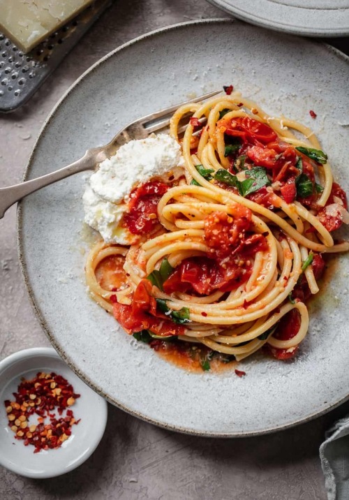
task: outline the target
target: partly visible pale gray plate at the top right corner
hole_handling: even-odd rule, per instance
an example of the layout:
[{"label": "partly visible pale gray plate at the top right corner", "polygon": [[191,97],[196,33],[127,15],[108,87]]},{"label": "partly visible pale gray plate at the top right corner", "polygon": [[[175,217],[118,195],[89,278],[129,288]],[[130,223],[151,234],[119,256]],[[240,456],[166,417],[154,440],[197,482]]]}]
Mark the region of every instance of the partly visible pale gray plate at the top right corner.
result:
[{"label": "partly visible pale gray plate at the top right corner", "polygon": [[208,0],[258,26],[307,36],[349,35],[348,0]]}]

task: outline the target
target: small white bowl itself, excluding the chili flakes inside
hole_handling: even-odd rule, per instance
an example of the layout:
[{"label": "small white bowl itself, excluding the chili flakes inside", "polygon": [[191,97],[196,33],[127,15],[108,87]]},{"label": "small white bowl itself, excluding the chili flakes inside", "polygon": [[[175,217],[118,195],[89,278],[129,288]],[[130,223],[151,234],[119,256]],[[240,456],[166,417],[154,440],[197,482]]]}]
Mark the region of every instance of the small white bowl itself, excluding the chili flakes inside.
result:
[{"label": "small white bowl itself, excluding the chili flakes inside", "polygon": [[[71,436],[60,448],[34,453],[34,446],[24,446],[24,441],[15,439],[8,426],[4,402],[6,399],[13,401],[13,392],[17,392],[21,377],[31,379],[38,372],[55,372],[73,385],[80,397],[71,409],[74,418],[81,420],[71,427]],[[53,348],[25,349],[0,362],[0,465],[6,469],[27,478],[53,478],[71,471],[94,452],[106,423],[105,399],[82,382]]]}]

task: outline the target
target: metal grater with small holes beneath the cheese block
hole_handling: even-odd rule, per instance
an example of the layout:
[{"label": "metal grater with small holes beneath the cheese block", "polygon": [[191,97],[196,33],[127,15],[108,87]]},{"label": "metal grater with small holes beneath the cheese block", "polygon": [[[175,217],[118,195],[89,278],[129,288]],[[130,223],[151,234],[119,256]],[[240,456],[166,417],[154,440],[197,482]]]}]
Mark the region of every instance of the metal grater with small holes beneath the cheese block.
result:
[{"label": "metal grater with small holes beneath the cheese block", "polygon": [[0,33],[0,112],[17,110],[26,103],[111,3],[92,3],[28,54]]}]

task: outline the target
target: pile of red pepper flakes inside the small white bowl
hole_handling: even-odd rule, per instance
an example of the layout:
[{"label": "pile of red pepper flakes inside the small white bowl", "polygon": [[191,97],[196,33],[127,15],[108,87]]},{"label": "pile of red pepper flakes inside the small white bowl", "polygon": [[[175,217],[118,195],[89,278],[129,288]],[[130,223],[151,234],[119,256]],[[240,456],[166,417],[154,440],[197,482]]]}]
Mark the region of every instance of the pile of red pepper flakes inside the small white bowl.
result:
[{"label": "pile of red pepper flakes inside the small white bowl", "polygon": [[[73,385],[66,378],[54,372],[38,372],[32,380],[22,378],[17,392],[13,392],[14,401],[6,399],[8,426],[15,432],[15,439],[22,439],[24,446],[33,445],[34,453],[40,450],[59,448],[71,434],[75,420],[73,411],[66,410],[75,403],[80,394],[75,394]],[[57,409],[61,416],[57,418],[52,410]],[[29,417],[36,413],[37,424],[29,424]],[[50,423],[44,423],[50,421]]]}]

